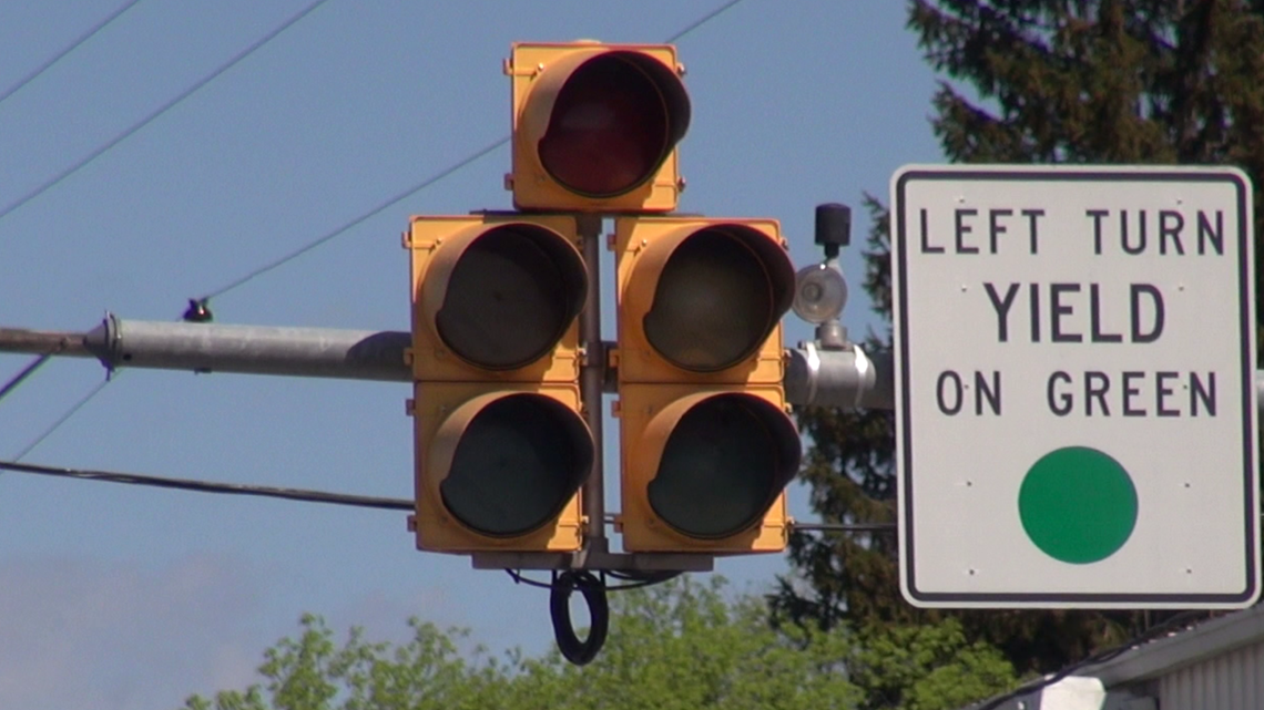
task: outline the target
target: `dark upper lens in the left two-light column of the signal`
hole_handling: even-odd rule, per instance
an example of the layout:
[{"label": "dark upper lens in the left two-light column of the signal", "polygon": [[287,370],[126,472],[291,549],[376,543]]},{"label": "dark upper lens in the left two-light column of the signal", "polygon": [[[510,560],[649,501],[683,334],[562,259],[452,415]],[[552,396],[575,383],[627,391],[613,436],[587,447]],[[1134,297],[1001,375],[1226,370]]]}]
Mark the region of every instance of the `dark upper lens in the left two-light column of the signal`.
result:
[{"label": "dark upper lens in the left two-light column of the signal", "polygon": [[532,225],[499,226],[461,253],[435,326],[463,360],[494,370],[521,368],[556,345],[585,289],[583,260],[561,235]]}]

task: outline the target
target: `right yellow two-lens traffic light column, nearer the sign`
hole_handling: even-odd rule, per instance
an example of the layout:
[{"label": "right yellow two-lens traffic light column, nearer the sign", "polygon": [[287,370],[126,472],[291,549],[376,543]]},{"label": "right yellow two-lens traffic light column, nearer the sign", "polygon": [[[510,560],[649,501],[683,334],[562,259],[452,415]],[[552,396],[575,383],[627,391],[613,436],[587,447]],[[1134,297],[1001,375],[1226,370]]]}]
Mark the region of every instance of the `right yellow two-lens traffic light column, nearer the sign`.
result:
[{"label": "right yellow two-lens traffic light column, nearer the sign", "polygon": [[614,225],[623,548],[784,550],[801,445],[781,384],[794,268],[777,222]]}]

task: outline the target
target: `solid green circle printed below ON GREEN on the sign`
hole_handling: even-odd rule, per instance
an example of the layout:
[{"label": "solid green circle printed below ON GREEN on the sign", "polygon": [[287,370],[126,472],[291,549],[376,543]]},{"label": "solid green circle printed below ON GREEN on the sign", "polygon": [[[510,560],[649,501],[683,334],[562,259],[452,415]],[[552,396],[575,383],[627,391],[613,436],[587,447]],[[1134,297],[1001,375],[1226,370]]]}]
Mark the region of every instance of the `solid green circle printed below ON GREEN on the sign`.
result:
[{"label": "solid green circle printed below ON GREEN on the sign", "polygon": [[1100,562],[1124,547],[1136,527],[1136,488],[1110,455],[1067,446],[1040,457],[1019,489],[1028,537],[1054,560]]}]

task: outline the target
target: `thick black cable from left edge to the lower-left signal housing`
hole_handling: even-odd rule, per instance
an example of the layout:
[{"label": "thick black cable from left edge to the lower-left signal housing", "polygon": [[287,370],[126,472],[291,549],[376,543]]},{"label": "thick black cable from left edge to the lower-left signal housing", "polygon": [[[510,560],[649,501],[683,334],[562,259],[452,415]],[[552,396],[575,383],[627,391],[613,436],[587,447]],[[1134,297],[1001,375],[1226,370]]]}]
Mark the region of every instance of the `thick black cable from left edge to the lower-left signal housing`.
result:
[{"label": "thick black cable from left edge to the lower-left signal housing", "polygon": [[81,480],[174,488],[179,490],[195,490],[198,493],[257,495],[262,498],[283,498],[287,500],[301,500],[305,503],[329,503],[331,505],[355,505],[359,508],[379,508],[386,510],[413,510],[416,508],[412,500],[403,498],[377,498],[370,495],[348,495],[344,493],[326,493],[301,488],[276,488],[270,485],[212,483],[193,479],[145,476],[140,474],[120,474],[115,471],[96,471],[91,469],[68,469],[62,466],[20,464],[18,461],[0,461],[0,470]]}]

